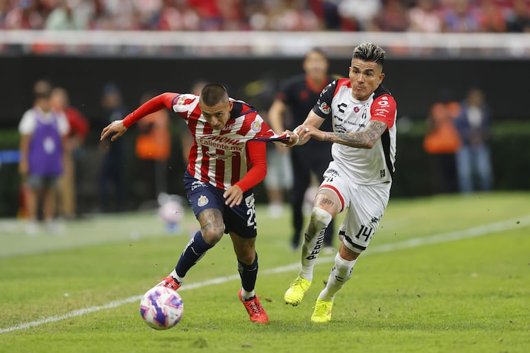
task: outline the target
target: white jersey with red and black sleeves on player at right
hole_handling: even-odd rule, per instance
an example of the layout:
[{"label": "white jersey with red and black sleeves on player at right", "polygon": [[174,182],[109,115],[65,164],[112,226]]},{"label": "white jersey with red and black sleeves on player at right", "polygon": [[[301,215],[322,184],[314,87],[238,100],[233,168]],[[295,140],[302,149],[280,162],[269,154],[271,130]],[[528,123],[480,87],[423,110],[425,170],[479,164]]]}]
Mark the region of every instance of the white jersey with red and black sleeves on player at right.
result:
[{"label": "white jersey with red and black sleeves on player at right", "polygon": [[363,131],[368,120],[385,122],[388,129],[372,149],[359,149],[334,143],[333,161],[358,184],[391,182],[396,160],[396,101],[379,85],[368,100],[352,96],[348,78],[335,80],[326,86],[312,111],[324,119],[332,119],[333,131],[349,133]]}]

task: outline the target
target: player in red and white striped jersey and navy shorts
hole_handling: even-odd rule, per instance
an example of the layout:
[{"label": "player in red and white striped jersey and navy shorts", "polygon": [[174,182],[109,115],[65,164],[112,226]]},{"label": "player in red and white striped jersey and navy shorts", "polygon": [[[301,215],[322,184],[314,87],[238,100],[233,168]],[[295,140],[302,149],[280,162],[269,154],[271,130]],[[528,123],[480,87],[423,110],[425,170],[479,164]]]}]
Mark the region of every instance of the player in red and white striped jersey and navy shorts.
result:
[{"label": "player in red and white striped jersey and navy shorts", "polygon": [[229,98],[222,85],[210,83],[200,96],[165,93],[148,100],[105,127],[101,139],[112,136],[114,141],[134,122],[165,107],[184,119],[193,135],[184,186],[201,229],[184,248],[175,270],[158,285],[178,289],[188,270],[224,233],[230,234],[241,277],[240,300],[251,321],[266,323],[267,314],[254,291],[258,266],[252,187],[266,175],[262,140],[279,136],[253,107]]}]

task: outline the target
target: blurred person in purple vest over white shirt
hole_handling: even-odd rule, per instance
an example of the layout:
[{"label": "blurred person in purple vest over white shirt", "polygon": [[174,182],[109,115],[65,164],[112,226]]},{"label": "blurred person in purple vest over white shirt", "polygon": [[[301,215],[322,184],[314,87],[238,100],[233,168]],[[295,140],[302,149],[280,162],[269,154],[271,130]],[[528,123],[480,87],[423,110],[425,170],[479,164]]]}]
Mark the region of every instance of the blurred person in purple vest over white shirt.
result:
[{"label": "blurred person in purple vest over white shirt", "polygon": [[[28,186],[25,193],[30,235],[39,232],[37,221],[42,218],[48,231],[61,230],[56,217],[56,184],[63,173],[64,139],[70,130],[66,116],[50,107],[52,85],[44,80],[34,85],[34,106],[26,111],[19,123],[19,172]],[[39,208],[39,205],[41,206]],[[38,211],[42,210],[42,217]]]}]

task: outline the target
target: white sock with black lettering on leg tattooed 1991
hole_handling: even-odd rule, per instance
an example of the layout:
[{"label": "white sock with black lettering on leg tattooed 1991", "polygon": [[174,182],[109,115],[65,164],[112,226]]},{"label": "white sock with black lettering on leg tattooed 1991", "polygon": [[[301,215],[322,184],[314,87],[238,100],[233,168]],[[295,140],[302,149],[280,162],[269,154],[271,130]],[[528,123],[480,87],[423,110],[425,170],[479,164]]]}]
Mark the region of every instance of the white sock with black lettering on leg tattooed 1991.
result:
[{"label": "white sock with black lettering on leg tattooed 1991", "polygon": [[301,268],[299,276],[312,281],[313,267],[324,246],[324,233],[331,222],[331,215],[322,208],[313,207],[311,220],[304,234],[304,243],[301,246]]}]

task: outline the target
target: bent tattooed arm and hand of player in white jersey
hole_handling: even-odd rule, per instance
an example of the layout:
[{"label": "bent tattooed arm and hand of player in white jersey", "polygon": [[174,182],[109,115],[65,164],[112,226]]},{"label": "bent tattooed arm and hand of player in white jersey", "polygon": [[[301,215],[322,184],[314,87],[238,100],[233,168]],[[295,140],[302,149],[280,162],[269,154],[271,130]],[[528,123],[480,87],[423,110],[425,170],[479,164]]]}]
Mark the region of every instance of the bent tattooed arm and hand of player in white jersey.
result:
[{"label": "bent tattooed arm and hand of player in white jersey", "polygon": [[387,127],[385,122],[370,120],[363,131],[340,133],[320,131],[315,129],[315,127],[304,124],[299,127],[299,138],[304,141],[309,138],[315,138],[316,140],[335,142],[359,149],[371,149]]}]

